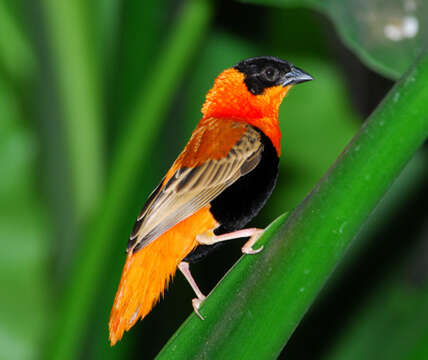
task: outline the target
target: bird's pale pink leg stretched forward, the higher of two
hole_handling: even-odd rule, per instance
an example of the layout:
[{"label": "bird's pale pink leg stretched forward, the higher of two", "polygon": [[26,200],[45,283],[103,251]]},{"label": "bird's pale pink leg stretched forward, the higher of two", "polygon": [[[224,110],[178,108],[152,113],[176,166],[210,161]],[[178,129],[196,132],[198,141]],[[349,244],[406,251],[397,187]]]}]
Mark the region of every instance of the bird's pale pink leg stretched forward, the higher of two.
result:
[{"label": "bird's pale pink leg stretched forward, the higher of two", "polygon": [[212,245],[221,241],[233,240],[249,236],[250,239],[244,244],[241,250],[244,254],[257,254],[258,252],[263,250],[263,245],[256,250],[253,249],[253,245],[256,243],[262,233],[263,229],[257,228],[242,229],[222,235],[214,235],[211,232],[211,234],[204,233],[196,236],[196,241],[201,245]]}]

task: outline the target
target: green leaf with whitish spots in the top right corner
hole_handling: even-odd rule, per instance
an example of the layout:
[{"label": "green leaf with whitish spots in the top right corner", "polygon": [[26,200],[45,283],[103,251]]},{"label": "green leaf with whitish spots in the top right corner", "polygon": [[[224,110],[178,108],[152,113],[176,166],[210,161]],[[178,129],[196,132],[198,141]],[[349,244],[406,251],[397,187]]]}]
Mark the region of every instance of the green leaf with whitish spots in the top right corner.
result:
[{"label": "green leaf with whitish spots in the top right corner", "polygon": [[247,0],[312,7],[327,14],[345,44],[382,75],[397,79],[428,45],[428,3],[421,0]]}]

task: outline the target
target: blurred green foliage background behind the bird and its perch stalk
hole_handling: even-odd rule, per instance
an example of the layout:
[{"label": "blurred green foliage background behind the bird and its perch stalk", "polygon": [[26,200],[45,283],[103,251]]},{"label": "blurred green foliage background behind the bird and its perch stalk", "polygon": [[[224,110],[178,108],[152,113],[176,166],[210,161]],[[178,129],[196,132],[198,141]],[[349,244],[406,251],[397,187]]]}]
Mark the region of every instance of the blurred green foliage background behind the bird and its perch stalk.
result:
[{"label": "blurred green foliage background behind the bird and its perch stalk", "polygon": [[[178,275],[108,345],[130,229],[223,69],[274,55],[315,78],[281,107],[279,182],[253,222],[265,227],[303,200],[427,45],[422,0],[253,2],[0,0],[1,359],[150,359],[192,311]],[[281,357],[427,358],[427,164],[425,146]],[[193,267],[204,292],[240,246]]]}]

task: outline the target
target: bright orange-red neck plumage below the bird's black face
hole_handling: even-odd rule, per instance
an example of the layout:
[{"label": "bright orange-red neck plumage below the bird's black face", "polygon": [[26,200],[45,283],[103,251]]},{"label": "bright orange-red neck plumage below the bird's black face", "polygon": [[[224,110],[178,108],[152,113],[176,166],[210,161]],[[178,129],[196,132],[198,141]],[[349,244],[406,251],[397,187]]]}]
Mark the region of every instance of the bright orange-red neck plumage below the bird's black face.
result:
[{"label": "bright orange-red neck plumage below the bird's black face", "polygon": [[205,118],[230,119],[256,126],[270,138],[278,156],[281,154],[279,105],[290,86],[268,88],[262,95],[251,94],[244,75],[236,69],[223,71],[208,92],[202,107]]}]

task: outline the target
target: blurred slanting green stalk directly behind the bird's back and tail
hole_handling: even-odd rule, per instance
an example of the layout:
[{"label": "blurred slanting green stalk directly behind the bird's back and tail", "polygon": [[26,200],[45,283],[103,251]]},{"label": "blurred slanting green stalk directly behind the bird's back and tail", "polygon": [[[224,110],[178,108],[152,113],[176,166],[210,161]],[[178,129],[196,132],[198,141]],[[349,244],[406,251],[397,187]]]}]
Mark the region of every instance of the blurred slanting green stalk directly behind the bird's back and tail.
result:
[{"label": "blurred slanting green stalk directly behind the bird's back and tail", "polygon": [[171,29],[166,48],[155,57],[156,61],[148,71],[146,91],[141,94],[139,105],[119,141],[105,201],[83,243],[66,288],[54,332],[53,348],[48,353],[51,359],[75,359],[79,352],[85,326],[89,326],[87,316],[97,296],[102,271],[107,265],[109,248],[113,242],[120,241],[116,237],[118,219],[127,199],[136,191],[136,174],[150,164],[149,153],[162,127],[173,92],[205,33],[211,13],[208,1],[188,1],[181,9],[177,24]]}]

